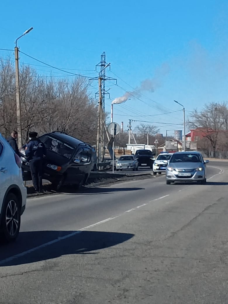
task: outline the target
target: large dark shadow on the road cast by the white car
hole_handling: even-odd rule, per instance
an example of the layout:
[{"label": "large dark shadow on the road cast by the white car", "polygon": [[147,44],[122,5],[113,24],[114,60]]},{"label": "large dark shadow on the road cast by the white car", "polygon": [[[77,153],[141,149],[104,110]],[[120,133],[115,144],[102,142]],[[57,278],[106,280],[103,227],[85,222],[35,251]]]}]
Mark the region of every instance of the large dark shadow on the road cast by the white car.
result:
[{"label": "large dark shadow on the road cast by the white car", "polygon": [[98,254],[96,250],[121,244],[133,236],[99,231],[21,232],[15,243],[0,245],[0,267],[45,261],[66,254]]}]

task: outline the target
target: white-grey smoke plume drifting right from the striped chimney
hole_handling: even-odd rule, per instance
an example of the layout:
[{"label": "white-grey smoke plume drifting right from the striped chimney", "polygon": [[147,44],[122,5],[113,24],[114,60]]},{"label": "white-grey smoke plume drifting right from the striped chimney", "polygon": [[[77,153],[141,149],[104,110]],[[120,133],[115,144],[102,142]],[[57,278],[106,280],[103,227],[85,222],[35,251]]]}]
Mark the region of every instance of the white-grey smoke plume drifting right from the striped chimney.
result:
[{"label": "white-grey smoke plume drifting right from the striped chimney", "polygon": [[151,79],[145,79],[141,81],[140,87],[136,88],[133,92],[126,92],[123,96],[117,97],[112,101],[112,104],[118,104],[126,102],[130,97],[140,97],[143,91],[154,92],[161,86],[162,78],[168,74],[168,64],[162,64],[161,67],[157,68],[154,73],[154,77]]}]

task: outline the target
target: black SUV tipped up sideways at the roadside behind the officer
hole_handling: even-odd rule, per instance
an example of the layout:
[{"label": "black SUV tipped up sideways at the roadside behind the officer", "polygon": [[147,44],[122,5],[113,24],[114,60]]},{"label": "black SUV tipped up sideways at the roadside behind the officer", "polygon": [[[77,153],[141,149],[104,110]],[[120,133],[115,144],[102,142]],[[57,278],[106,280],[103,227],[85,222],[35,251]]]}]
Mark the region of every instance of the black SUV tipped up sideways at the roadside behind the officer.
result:
[{"label": "black SUV tipped up sideways at the roadside behind the officer", "polygon": [[[50,181],[57,190],[62,185],[80,188],[85,184],[96,160],[94,150],[89,144],[59,131],[45,133],[39,139],[47,150],[43,159],[43,179]],[[26,179],[30,168],[25,157],[25,147],[26,145],[20,149],[20,155]]]}]

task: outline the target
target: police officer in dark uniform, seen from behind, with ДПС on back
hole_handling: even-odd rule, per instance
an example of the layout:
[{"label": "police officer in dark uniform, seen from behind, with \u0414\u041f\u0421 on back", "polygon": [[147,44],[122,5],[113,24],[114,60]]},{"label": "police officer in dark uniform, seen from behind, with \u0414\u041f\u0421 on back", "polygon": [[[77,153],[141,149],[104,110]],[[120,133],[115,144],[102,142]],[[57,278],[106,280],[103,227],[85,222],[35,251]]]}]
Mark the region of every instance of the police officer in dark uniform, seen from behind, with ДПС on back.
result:
[{"label": "police officer in dark uniform, seen from behind, with \u0414\u041f\u0421 on back", "polygon": [[29,133],[29,142],[26,146],[25,155],[28,157],[33,186],[37,192],[43,192],[42,163],[43,157],[46,155],[46,148],[37,138],[37,135],[37,132]]}]

